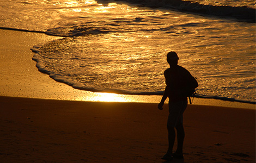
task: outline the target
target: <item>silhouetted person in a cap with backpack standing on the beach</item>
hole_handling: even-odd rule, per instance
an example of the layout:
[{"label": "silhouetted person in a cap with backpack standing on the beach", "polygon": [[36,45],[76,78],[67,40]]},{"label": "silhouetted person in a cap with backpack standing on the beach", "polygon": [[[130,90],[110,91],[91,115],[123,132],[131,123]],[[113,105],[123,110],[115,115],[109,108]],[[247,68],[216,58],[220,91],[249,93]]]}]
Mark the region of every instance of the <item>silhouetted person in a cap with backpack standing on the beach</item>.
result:
[{"label": "silhouetted person in a cap with backpack standing on the beach", "polygon": [[[190,83],[195,80],[190,72],[178,65],[178,60],[179,57],[175,52],[169,52],[167,54],[167,62],[170,65],[170,68],[164,71],[166,89],[164,90],[162,100],[158,105],[158,108],[162,110],[164,101],[167,97],[169,98],[169,116],[167,121],[169,147],[167,153],[162,158],[164,160],[183,158],[182,148],[185,132],[183,128],[182,114],[187,107],[187,90],[191,87]],[[177,131],[178,147],[176,152],[172,153],[175,141],[175,129]]]}]

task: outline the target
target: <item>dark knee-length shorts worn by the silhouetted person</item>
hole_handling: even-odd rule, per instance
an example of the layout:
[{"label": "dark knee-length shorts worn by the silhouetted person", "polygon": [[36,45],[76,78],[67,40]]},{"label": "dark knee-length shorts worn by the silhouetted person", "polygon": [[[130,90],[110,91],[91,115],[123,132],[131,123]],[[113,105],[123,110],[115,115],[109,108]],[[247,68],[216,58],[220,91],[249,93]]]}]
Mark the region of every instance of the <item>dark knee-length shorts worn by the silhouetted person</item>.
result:
[{"label": "dark knee-length shorts worn by the silhouetted person", "polygon": [[183,112],[187,108],[187,101],[171,102],[169,101],[169,116],[167,127],[176,127],[183,123]]}]

